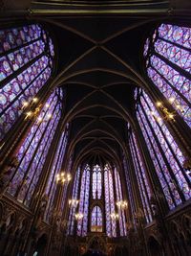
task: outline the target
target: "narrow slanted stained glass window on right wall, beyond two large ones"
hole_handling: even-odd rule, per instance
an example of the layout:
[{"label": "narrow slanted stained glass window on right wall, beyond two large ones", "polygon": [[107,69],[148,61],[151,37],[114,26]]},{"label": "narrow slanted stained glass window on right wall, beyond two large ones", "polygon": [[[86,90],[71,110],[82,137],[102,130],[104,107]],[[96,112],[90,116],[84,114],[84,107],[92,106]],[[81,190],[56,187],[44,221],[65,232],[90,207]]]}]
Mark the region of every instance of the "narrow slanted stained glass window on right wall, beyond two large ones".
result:
[{"label": "narrow slanted stained glass window on right wall, beyond two large ones", "polygon": [[134,132],[129,132],[129,145],[134,162],[134,168],[138,179],[138,189],[140,198],[143,205],[144,215],[147,222],[152,221],[151,206],[149,199],[151,198],[151,191],[148,183],[148,178],[145,172],[145,168],[141,159],[141,154],[138,149],[138,143]]}]

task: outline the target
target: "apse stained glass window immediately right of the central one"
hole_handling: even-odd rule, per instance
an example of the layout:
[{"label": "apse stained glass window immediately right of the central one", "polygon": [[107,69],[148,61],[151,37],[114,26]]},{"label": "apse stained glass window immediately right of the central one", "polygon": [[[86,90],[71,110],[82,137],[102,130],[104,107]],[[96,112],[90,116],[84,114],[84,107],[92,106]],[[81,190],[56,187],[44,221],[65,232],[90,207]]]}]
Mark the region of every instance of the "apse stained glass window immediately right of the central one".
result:
[{"label": "apse stained glass window immediately right of the central one", "polygon": [[117,236],[117,222],[111,219],[115,213],[114,181],[108,164],[104,167],[106,232],[109,237]]}]

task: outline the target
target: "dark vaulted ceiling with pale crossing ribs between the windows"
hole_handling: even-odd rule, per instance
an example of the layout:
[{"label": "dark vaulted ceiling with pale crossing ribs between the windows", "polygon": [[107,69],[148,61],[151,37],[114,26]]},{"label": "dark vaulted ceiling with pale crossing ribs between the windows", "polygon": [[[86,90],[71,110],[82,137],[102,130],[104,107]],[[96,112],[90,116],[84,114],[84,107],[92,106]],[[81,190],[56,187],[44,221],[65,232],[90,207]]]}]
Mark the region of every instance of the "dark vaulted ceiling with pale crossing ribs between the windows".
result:
[{"label": "dark vaulted ceiling with pale crossing ribs between the windows", "polygon": [[142,50],[157,22],[145,18],[52,18],[54,86],[65,86],[63,128],[75,163],[100,156],[120,164],[133,123],[134,89],[144,82]]}]

